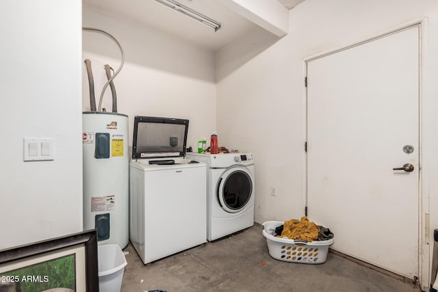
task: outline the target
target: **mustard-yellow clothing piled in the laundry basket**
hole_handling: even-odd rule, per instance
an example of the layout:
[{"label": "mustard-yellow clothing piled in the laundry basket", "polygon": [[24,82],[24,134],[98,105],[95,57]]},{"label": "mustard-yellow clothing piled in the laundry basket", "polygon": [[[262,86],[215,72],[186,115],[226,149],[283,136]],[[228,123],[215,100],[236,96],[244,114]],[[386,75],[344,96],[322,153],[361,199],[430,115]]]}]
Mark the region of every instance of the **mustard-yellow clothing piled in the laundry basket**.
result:
[{"label": "mustard-yellow clothing piled in the laundry basket", "polygon": [[279,237],[287,237],[289,239],[304,239],[313,241],[318,239],[320,228],[314,222],[309,222],[306,216],[301,217],[301,220],[291,219],[285,221],[283,232]]}]

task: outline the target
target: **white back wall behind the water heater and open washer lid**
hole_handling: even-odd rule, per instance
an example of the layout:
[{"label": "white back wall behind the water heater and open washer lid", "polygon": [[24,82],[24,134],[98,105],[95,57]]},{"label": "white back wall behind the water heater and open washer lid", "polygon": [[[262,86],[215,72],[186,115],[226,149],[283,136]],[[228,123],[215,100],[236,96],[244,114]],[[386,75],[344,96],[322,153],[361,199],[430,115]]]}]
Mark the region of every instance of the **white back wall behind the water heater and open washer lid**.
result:
[{"label": "white back wall behind the water heater and open washer lid", "polygon": [[[116,16],[83,8],[83,26],[103,29],[120,42],[125,65],[114,79],[118,112],[129,116],[129,148],[132,148],[134,116],[159,116],[190,120],[188,146],[196,149],[201,137],[216,127],[214,54],[159,31],[141,27]],[[96,104],[107,81],[104,64],[117,70],[116,44],[92,32],[83,33],[83,59],[92,62]],[[83,64],[83,63],[82,63]],[[83,65],[83,110],[90,110],[88,79]],[[105,90],[103,107],[111,111],[111,90]],[[96,105],[96,106],[97,106]]]}]

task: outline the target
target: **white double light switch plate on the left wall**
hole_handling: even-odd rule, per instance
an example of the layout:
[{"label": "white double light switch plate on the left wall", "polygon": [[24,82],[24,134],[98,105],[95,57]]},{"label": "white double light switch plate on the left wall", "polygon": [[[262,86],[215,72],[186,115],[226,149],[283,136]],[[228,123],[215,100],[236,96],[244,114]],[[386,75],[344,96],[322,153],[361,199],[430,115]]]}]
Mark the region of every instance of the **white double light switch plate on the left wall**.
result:
[{"label": "white double light switch plate on the left wall", "polygon": [[23,161],[53,160],[53,138],[25,138]]}]

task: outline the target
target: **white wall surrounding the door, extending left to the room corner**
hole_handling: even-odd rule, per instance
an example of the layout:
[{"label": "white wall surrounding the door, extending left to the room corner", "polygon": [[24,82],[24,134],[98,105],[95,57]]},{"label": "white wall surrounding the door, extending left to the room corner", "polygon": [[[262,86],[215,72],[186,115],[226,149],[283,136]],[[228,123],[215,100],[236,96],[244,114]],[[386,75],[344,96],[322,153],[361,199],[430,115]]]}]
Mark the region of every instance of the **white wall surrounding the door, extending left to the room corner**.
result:
[{"label": "white wall surrounding the door, extending left to the room corner", "polygon": [[[430,213],[428,232],[432,235],[438,228],[438,116],[434,114],[438,109],[438,2],[428,0],[307,0],[291,10],[289,34],[253,59],[234,53],[248,47],[250,38],[217,53],[218,133],[223,143],[255,153],[256,222],[304,215],[303,59],[423,16],[428,17],[423,28],[428,31],[428,43],[423,47],[427,59],[422,60],[422,224],[425,214]],[[229,107],[231,101],[237,101],[237,106]],[[424,230],[422,233],[424,236]],[[422,245],[422,254],[428,255],[433,237],[424,240],[430,245]],[[429,260],[423,261],[426,284]]]}]

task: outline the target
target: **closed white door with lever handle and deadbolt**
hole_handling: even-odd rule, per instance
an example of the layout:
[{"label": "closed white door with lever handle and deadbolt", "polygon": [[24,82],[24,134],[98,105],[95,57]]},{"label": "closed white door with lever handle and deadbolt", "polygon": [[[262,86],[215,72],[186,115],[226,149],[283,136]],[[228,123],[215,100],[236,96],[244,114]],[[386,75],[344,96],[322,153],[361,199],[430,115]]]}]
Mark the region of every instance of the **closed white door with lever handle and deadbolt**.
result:
[{"label": "closed white door with lever handle and deadbolt", "polygon": [[[333,249],[418,276],[420,27],[307,62],[307,215]],[[413,152],[411,152],[413,150]],[[393,170],[406,165],[406,170]]]}]

